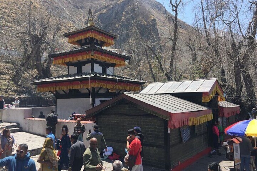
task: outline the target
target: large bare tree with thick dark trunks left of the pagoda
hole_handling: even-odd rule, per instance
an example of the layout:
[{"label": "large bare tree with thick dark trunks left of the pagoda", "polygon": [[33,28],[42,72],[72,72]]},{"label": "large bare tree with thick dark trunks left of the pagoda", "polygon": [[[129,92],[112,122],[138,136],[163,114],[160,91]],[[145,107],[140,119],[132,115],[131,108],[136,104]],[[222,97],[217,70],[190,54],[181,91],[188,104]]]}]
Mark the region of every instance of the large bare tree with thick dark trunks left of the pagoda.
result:
[{"label": "large bare tree with thick dark trunks left of the pagoda", "polygon": [[[33,16],[33,17],[32,17]],[[58,32],[61,30],[60,21],[53,23],[51,14],[44,16],[32,14],[31,1],[29,1],[28,27],[25,31],[18,33],[23,47],[23,57],[15,69],[12,81],[18,84],[26,68],[32,63],[38,71],[38,78],[51,77],[50,67],[52,59],[43,56],[55,52],[55,41]]]}]

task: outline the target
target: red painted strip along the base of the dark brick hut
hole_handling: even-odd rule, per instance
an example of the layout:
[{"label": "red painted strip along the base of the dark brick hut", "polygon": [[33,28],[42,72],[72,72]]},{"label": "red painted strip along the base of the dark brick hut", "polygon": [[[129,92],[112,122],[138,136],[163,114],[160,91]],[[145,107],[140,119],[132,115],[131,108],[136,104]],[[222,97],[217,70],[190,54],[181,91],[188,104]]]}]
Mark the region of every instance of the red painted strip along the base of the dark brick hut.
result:
[{"label": "red painted strip along the base of the dark brick hut", "polygon": [[208,154],[212,150],[211,147],[206,148],[205,150],[201,151],[200,153],[196,154],[195,156],[191,157],[190,159],[187,159],[183,163],[180,163],[180,165],[175,166],[172,171],[181,171],[182,169],[185,169],[187,166],[190,166],[192,163],[196,162],[196,160],[200,159],[202,156]]}]

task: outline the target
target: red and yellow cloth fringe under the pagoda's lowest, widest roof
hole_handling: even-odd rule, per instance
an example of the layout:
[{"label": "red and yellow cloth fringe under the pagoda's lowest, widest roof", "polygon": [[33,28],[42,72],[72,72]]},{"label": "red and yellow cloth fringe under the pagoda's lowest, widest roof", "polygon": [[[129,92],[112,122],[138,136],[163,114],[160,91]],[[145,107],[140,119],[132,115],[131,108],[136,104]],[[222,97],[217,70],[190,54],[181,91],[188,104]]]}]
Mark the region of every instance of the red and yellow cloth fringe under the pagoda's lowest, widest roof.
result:
[{"label": "red and yellow cloth fringe under the pagoda's lowest, widest roof", "polygon": [[80,88],[90,88],[90,87],[103,87],[107,89],[132,90],[132,91],[140,90],[140,84],[117,82],[117,81],[103,81],[103,80],[90,80],[90,84],[89,84],[89,80],[39,84],[37,86],[37,90],[40,92],[45,92],[45,91],[80,89]]}]

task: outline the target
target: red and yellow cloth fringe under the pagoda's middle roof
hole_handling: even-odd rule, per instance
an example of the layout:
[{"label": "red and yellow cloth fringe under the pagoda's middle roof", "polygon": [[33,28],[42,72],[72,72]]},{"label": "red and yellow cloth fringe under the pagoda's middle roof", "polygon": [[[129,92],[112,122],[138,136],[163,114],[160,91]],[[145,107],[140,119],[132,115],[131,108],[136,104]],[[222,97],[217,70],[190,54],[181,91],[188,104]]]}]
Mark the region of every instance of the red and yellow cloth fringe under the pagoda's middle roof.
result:
[{"label": "red and yellow cloth fringe under the pagoda's middle roof", "polygon": [[98,52],[98,51],[86,51],[75,54],[67,54],[58,57],[54,57],[53,64],[66,65],[65,62],[78,61],[83,59],[98,59],[100,61],[110,62],[116,64],[115,67],[123,67],[126,65],[124,58],[118,56]]}]

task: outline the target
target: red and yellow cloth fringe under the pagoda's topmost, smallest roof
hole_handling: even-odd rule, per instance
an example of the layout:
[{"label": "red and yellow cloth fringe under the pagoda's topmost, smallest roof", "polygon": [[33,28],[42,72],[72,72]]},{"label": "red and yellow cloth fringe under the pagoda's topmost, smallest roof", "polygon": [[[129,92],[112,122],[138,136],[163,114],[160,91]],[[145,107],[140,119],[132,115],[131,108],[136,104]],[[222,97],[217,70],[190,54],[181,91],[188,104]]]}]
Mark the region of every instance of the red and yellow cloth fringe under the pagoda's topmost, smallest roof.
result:
[{"label": "red and yellow cloth fringe under the pagoda's topmost, smallest roof", "polygon": [[80,46],[80,44],[78,44],[77,41],[88,37],[96,38],[97,40],[104,41],[105,43],[103,44],[103,46],[111,46],[114,44],[114,41],[113,41],[114,38],[94,30],[88,30],[82,33],[70,35],[68,36],[68,42],[70,44]]}]

